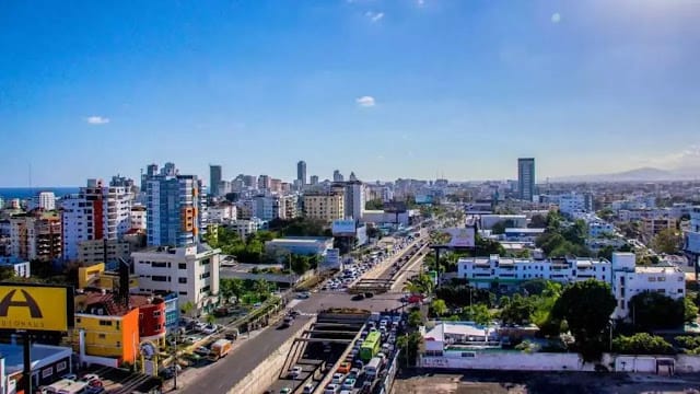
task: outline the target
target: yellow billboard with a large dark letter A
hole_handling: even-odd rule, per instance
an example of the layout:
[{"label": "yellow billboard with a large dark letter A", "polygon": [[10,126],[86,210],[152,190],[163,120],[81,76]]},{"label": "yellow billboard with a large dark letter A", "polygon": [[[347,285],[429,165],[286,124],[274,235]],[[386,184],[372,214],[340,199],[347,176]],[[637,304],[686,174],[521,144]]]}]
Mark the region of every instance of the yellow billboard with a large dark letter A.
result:
[{"label": "yellow billboard with a large dark letter A", "polygon": [[72,288],[0,283],[0,329],[65,332],[72,326]]}]

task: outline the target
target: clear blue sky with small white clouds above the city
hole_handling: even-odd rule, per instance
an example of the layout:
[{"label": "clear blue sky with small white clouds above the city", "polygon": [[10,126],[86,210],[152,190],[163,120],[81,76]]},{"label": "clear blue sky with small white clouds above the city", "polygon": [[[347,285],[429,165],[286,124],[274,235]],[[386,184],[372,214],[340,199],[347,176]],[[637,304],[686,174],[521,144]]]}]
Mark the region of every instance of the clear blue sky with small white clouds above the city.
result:
[{"label": "clear blue sky with small white clouds above the city", "polygon": [[0,2],[0,186],[700,165],[700,2]]}]

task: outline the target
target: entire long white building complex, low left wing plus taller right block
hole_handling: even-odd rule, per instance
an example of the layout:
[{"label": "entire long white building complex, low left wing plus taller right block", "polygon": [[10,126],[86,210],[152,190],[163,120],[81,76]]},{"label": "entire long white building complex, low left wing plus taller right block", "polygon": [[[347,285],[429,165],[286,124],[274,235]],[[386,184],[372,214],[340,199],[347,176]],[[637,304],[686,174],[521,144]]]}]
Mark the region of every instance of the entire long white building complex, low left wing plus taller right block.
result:
[{"label": "entire long white building complex, low left wing plus taller right block", "polygon": [[457,262],[459,278],[479,289],[492,283],[514,286],[532,279],[547,279],[561,283],[596,279],[610,283],[617,306],[612,317],[629,316],[632,297],[644,292],[661,292],[673,299],[685,297],[685,274],[674,267],[637,267],[633,253],[614,253],[612,263],[588,257],[544,260],[511,257],[463,257]]}]

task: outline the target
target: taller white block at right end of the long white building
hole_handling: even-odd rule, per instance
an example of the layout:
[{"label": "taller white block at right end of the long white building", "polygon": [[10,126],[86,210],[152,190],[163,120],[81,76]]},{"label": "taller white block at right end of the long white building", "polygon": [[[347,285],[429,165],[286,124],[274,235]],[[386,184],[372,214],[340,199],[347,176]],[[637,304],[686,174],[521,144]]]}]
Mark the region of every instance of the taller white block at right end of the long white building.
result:
[{"label": "taller white block at right end of the long white building", "polygon": [[644,292],[660,292],[672,299],[686,296],[685,274],[674,266],[637,267],[633,253],[612,254],[612,293],[617,300],[612,317],[625,318],[632,313],[630,300]]}]

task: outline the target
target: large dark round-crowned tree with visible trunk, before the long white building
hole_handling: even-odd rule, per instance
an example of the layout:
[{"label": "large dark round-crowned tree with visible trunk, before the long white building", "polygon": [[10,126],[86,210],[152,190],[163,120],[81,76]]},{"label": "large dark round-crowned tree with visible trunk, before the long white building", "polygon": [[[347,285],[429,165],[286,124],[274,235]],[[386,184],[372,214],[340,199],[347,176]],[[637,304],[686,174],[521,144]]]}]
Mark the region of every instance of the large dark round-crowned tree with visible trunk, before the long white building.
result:
[{"label": "large dark round-crowned tree with visible trunk, before the long white building", "polygon": [[585,360],[599,358],[603,334],[609,324],[616,300],[607,282],[588,279],[567,286],[557,299],[551,315],[565,320]]}]

